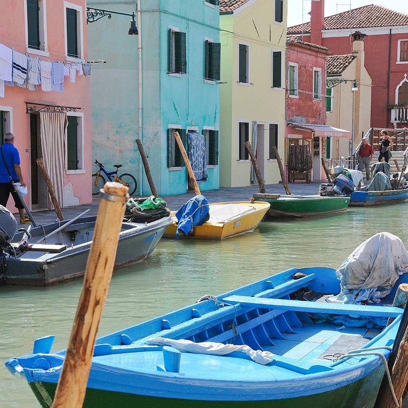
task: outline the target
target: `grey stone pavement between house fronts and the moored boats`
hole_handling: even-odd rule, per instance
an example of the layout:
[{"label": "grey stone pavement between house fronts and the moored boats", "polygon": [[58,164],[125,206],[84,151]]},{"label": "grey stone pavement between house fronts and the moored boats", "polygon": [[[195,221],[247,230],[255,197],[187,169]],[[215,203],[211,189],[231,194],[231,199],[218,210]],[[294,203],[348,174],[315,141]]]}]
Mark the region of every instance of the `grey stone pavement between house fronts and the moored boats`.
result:
[{"label": "grey stone pavement between house fronts and the moored boats", "polygon": [[[302,181],[294,182],[288,184],[290,192],[292,194],[299,194],[299,195],[311,195],[311,194],[318,194],[319,193],[319,185],[320,183],[327,183],[326,180],[322,181],[312,181],[311,183],[307,184]],[[273,194],[281,194],[285,195],[285,188],[283,184],[267,184],[265,185],[265,189],[267,193]],[[224,202],[224,201],[241,201],[241,200],[249,200],[252,197],[252,194],[258,193],[259,188],[258,185],[251,185],[246,187],[221,187],[217,190],[208,190],[202,191],[202,195],[205,195],[209,198],[210,202]],[[175,195],[167,195],[162,196],[166,203],[167,207],[171,211],[178,210],[186,201],[188,201],[191,197],[194,196],[194,191],[189,191],[188,193],[184,194],[175,194]],[[76,206],[76,207],[69,207],[62,209],[62,214],[65,220],[72,219],[77,215],[83,213],[87,209],[90,209],[89,213],[86,216],[95,216],[97,214],[99,208],[99,196],[93,196],[92,203]],[[49,223],[53,223],[57,219],[57,215],[55,211],[44,210],[44,211],[33,211],[32,212],[33,218],[37,225],[45,225]],[[20,224],[19,224],[20,227]]]}]

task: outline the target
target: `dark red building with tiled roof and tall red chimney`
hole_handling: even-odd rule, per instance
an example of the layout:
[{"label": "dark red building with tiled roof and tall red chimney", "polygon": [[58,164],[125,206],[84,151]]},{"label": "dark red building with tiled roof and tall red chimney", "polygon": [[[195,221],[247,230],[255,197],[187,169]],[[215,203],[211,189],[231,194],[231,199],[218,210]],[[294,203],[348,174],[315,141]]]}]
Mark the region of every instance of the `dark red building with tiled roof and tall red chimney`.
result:
[{"label": "dark red building with tiled roof and tall red chimney", "polygon": [[408,15],[369,5],[325,18],[324,6],[324,0],[312,2],[311,22],[289,27],[287,34],[337,55],[352,53],[351,32],[365,34],[365,67],[372,78],[371,127],[402,128],[408,119]]}]

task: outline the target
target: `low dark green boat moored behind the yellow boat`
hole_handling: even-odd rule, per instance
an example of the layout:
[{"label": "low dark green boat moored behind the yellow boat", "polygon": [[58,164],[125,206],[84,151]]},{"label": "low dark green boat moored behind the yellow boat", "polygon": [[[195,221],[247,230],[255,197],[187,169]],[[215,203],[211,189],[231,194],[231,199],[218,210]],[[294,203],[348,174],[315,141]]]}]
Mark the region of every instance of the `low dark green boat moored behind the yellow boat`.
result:
[{"label": "low dark green boat moored behind the yellow boat", "polygon": [[269,202],[267,213],[274,218],[317,217],[346,211],[350,197],[321,195],[254,194],[255,201]]}]

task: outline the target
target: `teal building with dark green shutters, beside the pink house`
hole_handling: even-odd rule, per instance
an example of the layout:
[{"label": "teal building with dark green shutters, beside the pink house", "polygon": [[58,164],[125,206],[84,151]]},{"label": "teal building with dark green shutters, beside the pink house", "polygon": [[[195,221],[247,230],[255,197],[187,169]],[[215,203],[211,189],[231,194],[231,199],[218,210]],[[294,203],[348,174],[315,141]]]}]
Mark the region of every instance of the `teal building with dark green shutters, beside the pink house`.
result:
[{"label": "teal building with dark green shutters, beside the pink house", "polygon": [[[219,188],[220,35],[218,0],[87,3],[92,157],[132,173],[150,195],[136,139],[142,141],[159,195],[184,193],[188,175],[174,139],[206,137],[208,178]],[[89,9],[105,10],[99,12]],[[105,16],[106,11],[116,13]],[[128,35],[134,13],[138,35]],[[93,15],[93,17],[91,16]],[[96,17],[95,17],[96,15]],[[130,16],[127,16],[130,15]]]}]

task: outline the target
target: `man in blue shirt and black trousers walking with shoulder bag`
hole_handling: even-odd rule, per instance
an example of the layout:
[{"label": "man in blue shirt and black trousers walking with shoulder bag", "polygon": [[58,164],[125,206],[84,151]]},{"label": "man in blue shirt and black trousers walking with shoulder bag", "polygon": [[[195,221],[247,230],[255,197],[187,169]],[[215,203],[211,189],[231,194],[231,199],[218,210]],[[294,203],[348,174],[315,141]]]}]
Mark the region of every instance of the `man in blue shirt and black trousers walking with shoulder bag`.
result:
[{"label": "man in blue shirt and black trousers walking with shoulder bag", "polygon": [[19,210],[20,224],[30,223],[30,219],[24,215],[24,206],[20,197],[17,195],[16,190],[10,180],[20,182],[23,187],[26,183],[23,180],[20,167],[20,154],[14,147],[14,135],[13,133],[6,133],[4,137],[4,145],[0,148],[0,205],[7,206],[10,193],[12,194],[16,208]]}]

